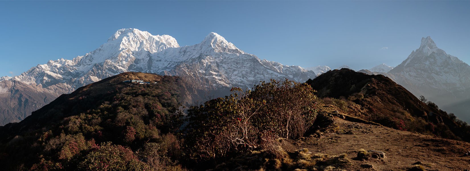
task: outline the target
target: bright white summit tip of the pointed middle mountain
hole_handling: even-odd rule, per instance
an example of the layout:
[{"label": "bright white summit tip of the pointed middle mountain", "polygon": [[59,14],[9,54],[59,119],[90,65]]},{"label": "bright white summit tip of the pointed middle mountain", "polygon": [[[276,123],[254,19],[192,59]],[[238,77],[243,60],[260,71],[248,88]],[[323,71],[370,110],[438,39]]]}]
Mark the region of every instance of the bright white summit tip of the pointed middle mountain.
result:
[{"label": "bright white summit tip of the pointed middle mountain", "polygon": [[228,42],[224,37],[215,32],[209,33],[199,45],[203,48],[210,47],[214,49],[215,52],[244,53],[242,50],[235,47],[234,44]]}]

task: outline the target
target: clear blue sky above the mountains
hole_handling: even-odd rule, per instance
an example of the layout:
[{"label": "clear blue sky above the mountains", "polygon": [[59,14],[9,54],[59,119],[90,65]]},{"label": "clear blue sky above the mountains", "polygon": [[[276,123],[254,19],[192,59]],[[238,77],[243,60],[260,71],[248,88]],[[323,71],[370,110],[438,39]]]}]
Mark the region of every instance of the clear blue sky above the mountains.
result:
[{"label": "clear blue sky above the mountains", "polygon": [[0,1],[0,76],[72,59],[121,28],[180,46],[211,31],[287,65],[396,66],[431,36],[470,62],[470,1]]}]

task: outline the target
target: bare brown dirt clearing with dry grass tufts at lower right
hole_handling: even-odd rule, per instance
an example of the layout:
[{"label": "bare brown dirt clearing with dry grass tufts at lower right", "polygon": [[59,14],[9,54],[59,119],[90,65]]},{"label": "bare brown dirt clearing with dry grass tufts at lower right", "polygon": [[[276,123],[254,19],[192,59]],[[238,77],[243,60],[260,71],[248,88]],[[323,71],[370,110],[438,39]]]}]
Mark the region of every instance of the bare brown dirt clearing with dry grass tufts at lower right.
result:
[{"label": "bare brown dirt clearing with dry grass tufts at lower right", "polygon": [[[334,117],[339,126],[336,132],[318,137],[294,141],[287,140],[283,148],[293,152],[308,148],[313,153],[328,155],[347,154],[352,163],[345,170],[400,171],[420,162],[428,171],[470,170],[470,156],[462,156],[470,150],[470,143],[435,138],[429,135],[399,131],[392,128],[350,122]],[[386,157],[354,160],[359,149],[383,151]],[[372,168],[363,168],[372,164]]]}]

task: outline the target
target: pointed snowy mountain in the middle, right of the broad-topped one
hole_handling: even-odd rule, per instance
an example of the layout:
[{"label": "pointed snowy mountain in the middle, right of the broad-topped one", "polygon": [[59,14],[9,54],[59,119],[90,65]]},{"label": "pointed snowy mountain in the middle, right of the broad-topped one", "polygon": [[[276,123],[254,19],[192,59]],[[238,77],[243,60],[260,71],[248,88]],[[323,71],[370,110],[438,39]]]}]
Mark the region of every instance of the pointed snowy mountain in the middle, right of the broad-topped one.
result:
[{"label": "pointed snowy mountain in the middle, right of the broad-topped one", "polygon": [[[282,65],[279,62],[260,60],[227,42],[222,36],[211,32],[199,44],[172,48],[157,53],[153,58],[152,72],[169,75],[194,75],[204,77],[216,87],[251,87],[261,80],[290,78],[305,81],[314,77],[314,72],[299,66]],[[176,65],[156,65],[160,61],[174,61]],[[170,67],[168,67],[170,66]],[[170,70],[162,70],[168,68]]]}]

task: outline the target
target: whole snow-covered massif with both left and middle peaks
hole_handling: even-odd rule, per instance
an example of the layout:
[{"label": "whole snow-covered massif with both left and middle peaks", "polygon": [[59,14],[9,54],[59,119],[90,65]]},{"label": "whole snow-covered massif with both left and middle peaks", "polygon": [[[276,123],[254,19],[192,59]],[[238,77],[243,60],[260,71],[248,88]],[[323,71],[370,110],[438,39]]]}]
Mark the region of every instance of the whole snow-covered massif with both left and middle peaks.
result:
[{"label": "whole snow-covered massif with both left and middle peaks", "polygon": [[247,54],[214,32],[199,44],[180,47],[169,35],[154,36],[138,29],[120,29],[88,54],[72,60],[49,61],[19,76],[0,79],[20,81],[61,94],[126,71],[177,75],[204,91],[220,91],[232,86],[246,88],[271,78],[304,82],[315,77],[313,71],[299,66],[282,65]]}]

